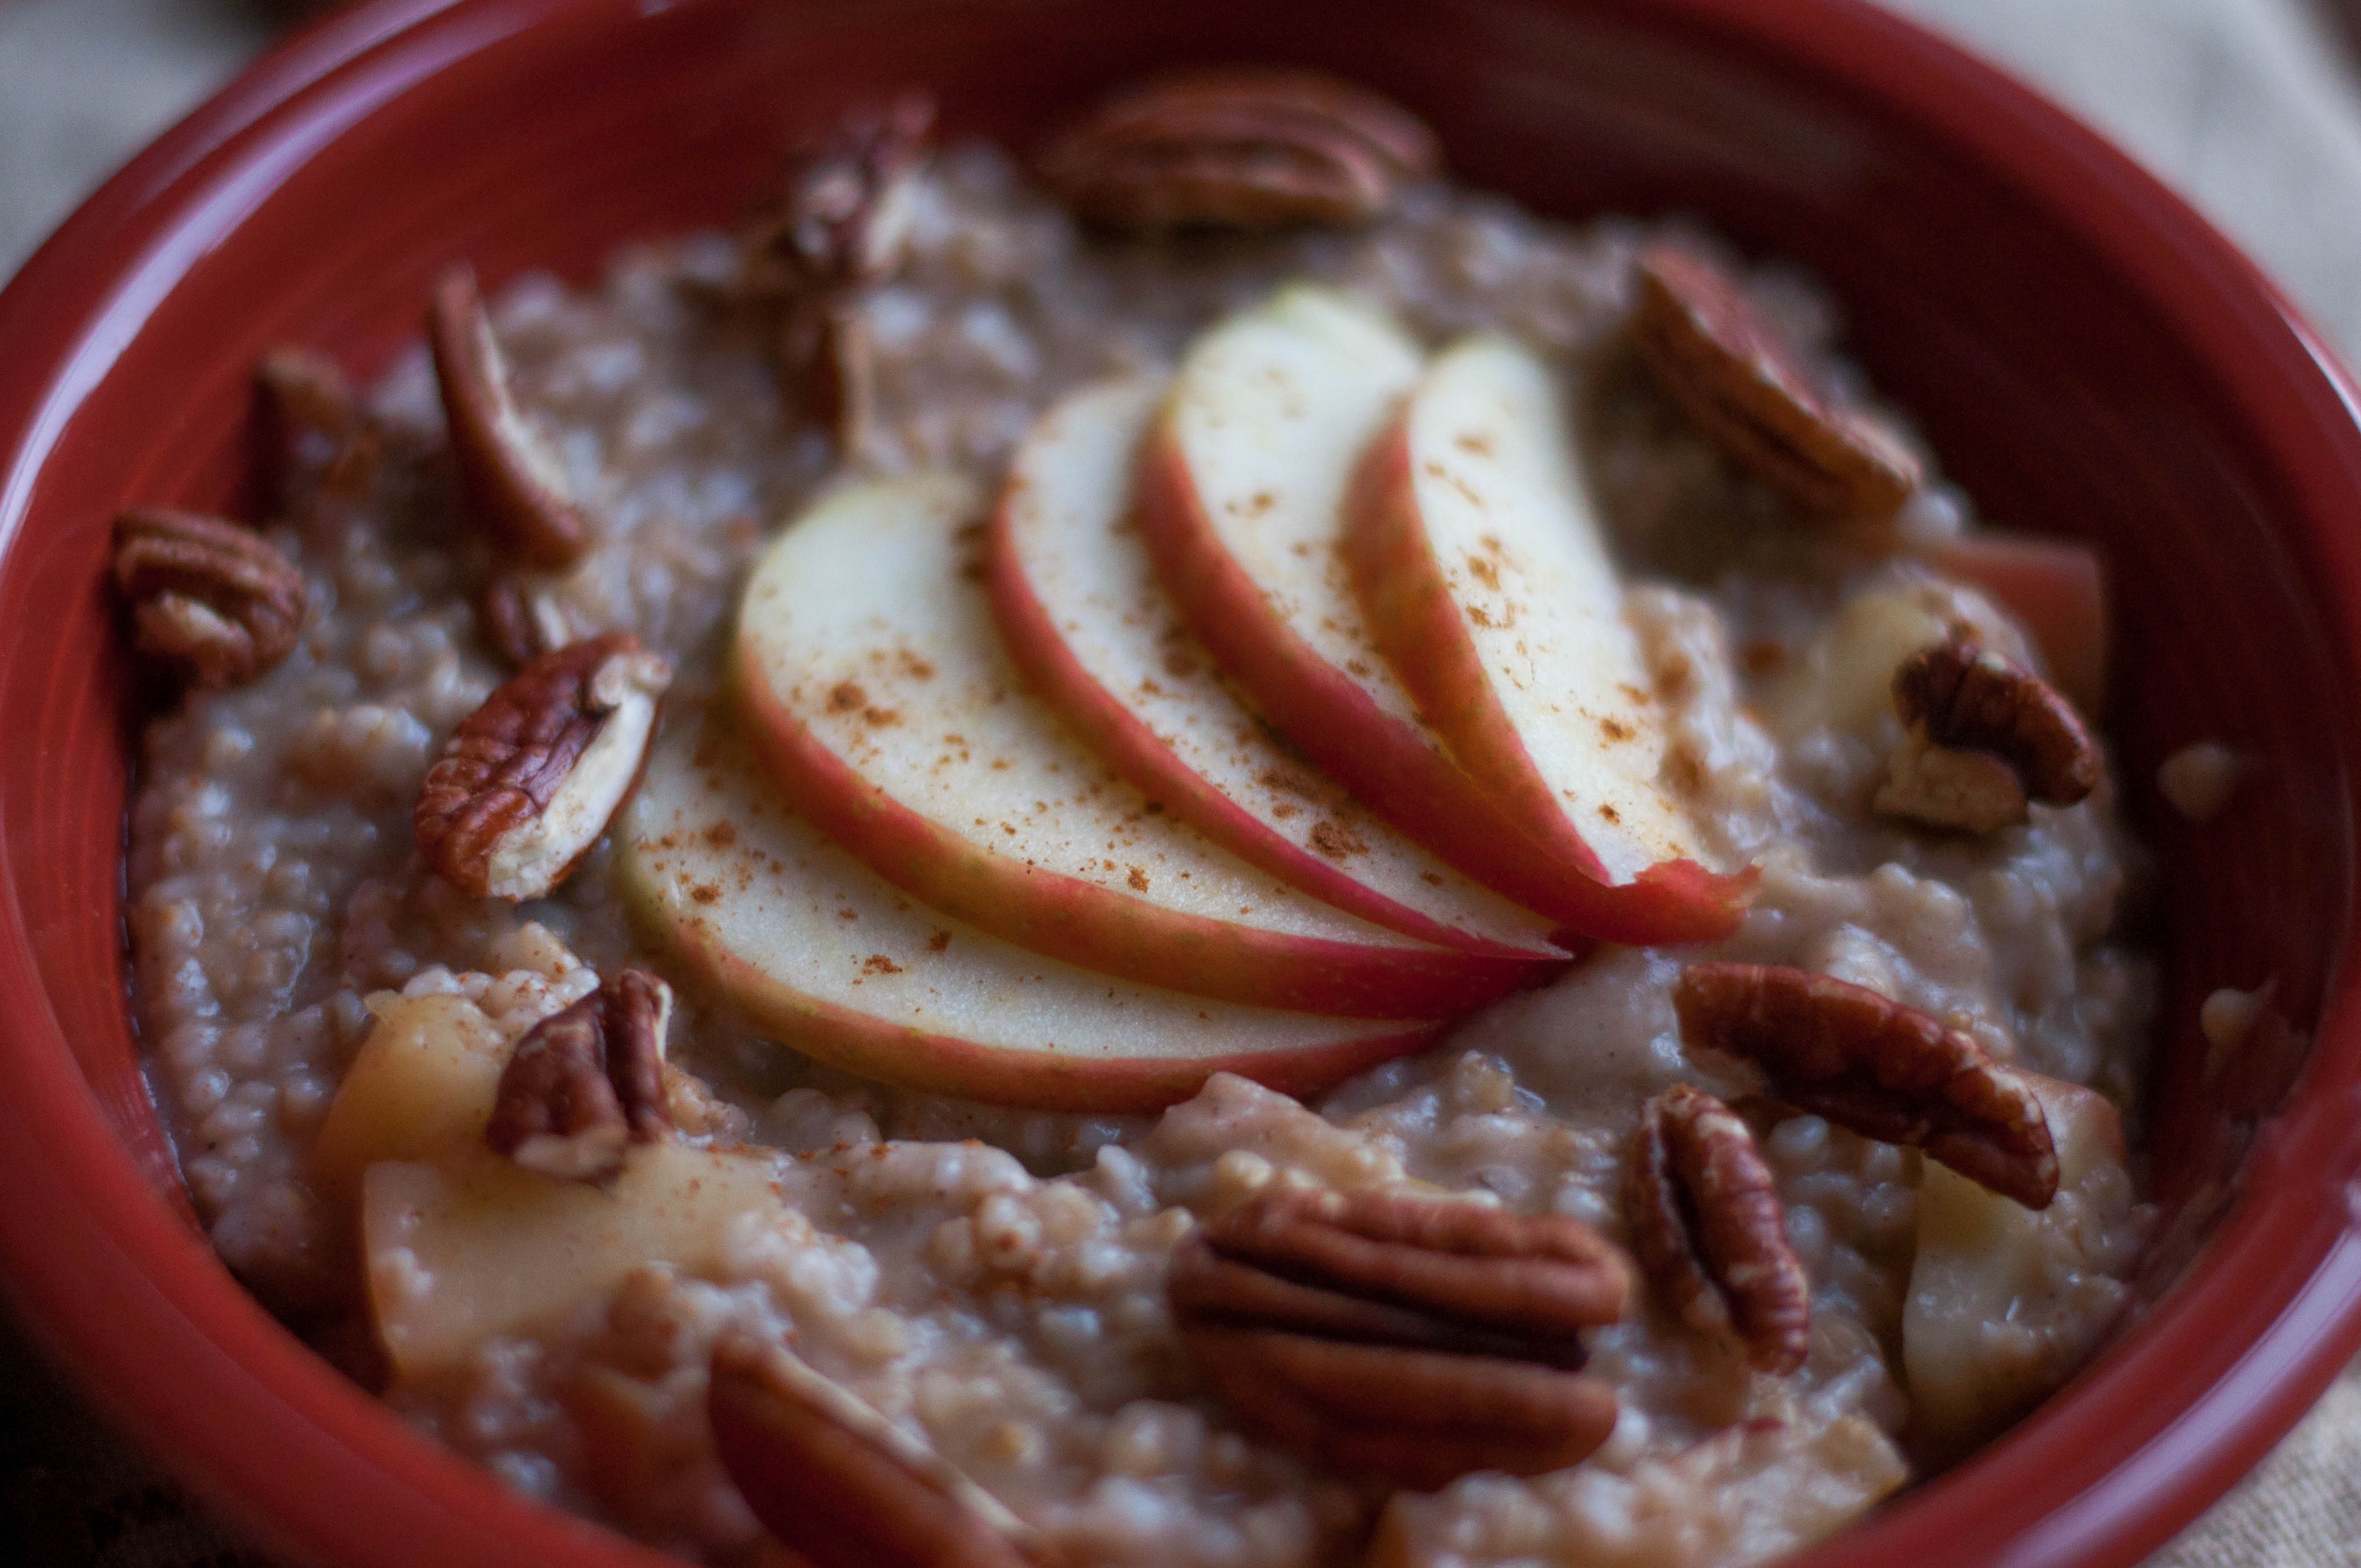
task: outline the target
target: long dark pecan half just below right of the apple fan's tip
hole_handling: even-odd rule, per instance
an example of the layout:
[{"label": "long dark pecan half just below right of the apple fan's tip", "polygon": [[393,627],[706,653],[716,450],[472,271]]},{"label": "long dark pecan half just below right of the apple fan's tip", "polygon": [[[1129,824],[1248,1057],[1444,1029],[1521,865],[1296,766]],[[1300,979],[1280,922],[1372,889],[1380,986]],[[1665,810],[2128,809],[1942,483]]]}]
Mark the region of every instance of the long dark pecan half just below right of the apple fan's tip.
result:
[{"label": "long dark pecan half just below right of the apple fan's tip", "polygon": [[2056,1197],[2056,1143],[2023,1074],[1917,1008],[1773,963],[1690,963],[1672,1006],[1681,1039],[1752,1060],[1797,1110],[1922,1148],[2028,1209]]}]

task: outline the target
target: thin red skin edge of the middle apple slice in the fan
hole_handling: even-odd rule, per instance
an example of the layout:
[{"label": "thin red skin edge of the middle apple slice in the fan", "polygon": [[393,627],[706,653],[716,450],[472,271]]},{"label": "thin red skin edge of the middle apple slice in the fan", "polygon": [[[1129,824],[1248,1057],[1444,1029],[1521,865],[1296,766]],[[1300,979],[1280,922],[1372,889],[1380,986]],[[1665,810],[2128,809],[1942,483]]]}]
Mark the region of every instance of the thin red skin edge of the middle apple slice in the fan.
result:
[{"label": "thin red skin edge of the middle apple slice in the fan", "polygon": [[1211,782],[1185,767],[1121,701],[1117,701],[1088,671],[1067,652],[1048,609],[1034,597],[1018,564],[1013,520],[1006,503],[992,515],[987,541],[987,590],[992,595],[992,619],[1001,631],[1001,642],[1015,659],[1025,685],[1041,701],[1053,706],[1098,756],[1129,779],[1140,793],[1162,801],[1180,822],[1230,850],[1251,867],[1291,883],[1313,897],[1358,914],[1372,926],[1400,930],[1402,935],[1452,947],[1504,963],[1525,963],[1535,980],[1546,980],[1565,966],[1565,954],[1535,954],[1530,949],[1490,942],[1417,909],[1393,902],[1367,888],[1346,871],[1287,843],[1251,812],[1240,808]]}]

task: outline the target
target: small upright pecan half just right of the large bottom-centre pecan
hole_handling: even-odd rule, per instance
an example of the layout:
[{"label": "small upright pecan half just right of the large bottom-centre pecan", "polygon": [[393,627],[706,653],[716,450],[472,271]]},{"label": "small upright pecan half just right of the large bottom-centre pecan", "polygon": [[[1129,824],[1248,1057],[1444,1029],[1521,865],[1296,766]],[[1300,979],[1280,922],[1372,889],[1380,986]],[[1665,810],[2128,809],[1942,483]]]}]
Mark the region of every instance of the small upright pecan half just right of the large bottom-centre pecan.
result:
[{"label": "small upright pecan half just right of the large bottom-centre pecan", "polygon": [[1764,1372],[1811,1353],[1811,1280],[1754,1133],[1681,1084],[1648,1100],[1624,1174],[1631,1252],[1681,1322],[1735,1341]]}]

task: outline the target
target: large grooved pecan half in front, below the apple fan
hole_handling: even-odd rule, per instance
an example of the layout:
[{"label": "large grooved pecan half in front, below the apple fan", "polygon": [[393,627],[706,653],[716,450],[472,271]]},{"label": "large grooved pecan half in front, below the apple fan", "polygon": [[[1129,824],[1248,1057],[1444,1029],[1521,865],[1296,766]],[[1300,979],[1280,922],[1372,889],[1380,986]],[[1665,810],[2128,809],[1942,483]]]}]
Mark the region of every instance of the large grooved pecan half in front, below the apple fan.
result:
[{"label": "large grooved pecan half in front, below the apple fan", "polygon": [[1393,1193],[1273,1193],[1202,1226],[1166,1294],[1214,1391],[1339,1471],[1443,1485],[1577,1464],[1615,1429],[1582,1329],[1624,1256],[1575,1219]]}]

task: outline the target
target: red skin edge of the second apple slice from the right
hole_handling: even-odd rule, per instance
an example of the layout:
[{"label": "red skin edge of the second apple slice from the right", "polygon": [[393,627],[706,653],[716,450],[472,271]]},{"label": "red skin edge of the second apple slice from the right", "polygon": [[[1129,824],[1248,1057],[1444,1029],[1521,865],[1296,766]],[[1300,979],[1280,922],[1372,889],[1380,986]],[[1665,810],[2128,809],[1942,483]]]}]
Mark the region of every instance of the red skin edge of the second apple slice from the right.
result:
[{"label": "red skin edge of the second apple slice from the right", "polygon": [[[1417,730],[1379,711],[1367,692],[1299,638],[1268,628],[1263,593],[1221,548],[1164,420],[1143,446],[1138,494],[1147,553],[1180,619],[1273,725],[1395,829],[1502,897],[1565,921],[1568,937],[1561,940],[1702,942],[1742,919],[1752,874],[1714,878],[1679,862],[1653,867],[1631,888],[1603,888],[1584,871],[1584,864],[1596,867],[1589,850],[1580,862],[1556,855],[1478,793],[1459,765]],[[1265,633],[1244,633],[1256,621]],[[1745,886],[1705,893],[1700,878]]]}]

